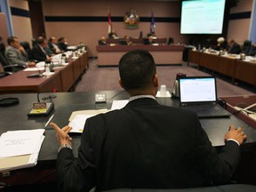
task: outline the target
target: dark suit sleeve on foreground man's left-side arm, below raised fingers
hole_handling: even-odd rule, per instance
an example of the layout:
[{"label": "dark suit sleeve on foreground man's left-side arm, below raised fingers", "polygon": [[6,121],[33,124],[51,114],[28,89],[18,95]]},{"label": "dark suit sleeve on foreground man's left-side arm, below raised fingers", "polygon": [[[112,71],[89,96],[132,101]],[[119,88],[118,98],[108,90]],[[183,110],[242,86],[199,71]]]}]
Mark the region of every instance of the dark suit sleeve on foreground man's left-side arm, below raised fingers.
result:
[{"label": "dark suit sleeve on foreground man's left-side arm, below raised fingers", "polygon": [[89,123],[84,125],[76,159],[69,148],[62,148],[57,158],[58,188],[63,192],[89,191],[95,186],[95,165]]}]

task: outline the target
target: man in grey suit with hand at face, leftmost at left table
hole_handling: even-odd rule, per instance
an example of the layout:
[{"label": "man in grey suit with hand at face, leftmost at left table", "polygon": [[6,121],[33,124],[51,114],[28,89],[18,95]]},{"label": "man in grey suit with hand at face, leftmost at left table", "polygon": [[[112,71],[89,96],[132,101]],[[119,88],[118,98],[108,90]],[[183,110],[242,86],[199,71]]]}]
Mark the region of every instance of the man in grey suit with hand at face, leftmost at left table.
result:
[{"label": "man in grey suit with hand at face, leftmost at left table", "polygon": [[4,55],[10,65],[18,64],[20,66],[35,67],[36,63],[28,60],[28,53],[20,45],[17,36],[7,38],[8,46],[5,48]]}]

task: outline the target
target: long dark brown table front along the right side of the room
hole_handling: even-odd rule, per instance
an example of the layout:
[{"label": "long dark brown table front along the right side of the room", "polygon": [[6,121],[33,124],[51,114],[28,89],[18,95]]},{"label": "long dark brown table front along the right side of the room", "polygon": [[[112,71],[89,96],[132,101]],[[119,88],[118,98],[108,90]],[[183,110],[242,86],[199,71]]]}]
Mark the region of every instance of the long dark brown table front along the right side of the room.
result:
[{"label": "long dark brown table front along the right side of the room", "polygon": [[218,72],[229,76],[233,83],[236,80],[256,86],[256,62],[236,59],[231,56],[219,56],[207,52],[189,50],[189,63],[196,63],[199,67],[208,68],[212,73]]}]

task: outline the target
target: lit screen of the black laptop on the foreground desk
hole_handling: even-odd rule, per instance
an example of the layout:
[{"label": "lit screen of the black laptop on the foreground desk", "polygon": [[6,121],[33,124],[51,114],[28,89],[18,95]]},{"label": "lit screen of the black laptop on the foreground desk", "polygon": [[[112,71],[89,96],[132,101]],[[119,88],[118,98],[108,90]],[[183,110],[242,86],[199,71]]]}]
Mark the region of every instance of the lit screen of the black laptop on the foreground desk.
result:
[{"label": "lit screen of the black laptop on the foreground desk", "polygon": [[212,76],[180,78],[180,103],[210,102],[217,100],[216,80]]}]

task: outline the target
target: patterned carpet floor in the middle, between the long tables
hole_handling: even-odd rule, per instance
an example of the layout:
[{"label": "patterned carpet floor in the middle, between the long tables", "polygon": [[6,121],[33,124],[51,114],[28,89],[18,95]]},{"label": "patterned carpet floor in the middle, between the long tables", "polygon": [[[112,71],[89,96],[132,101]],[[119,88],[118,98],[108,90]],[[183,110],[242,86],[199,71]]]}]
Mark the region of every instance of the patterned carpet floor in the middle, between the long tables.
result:
[{"label": "patterned carpet floor in the middle, between the long tables", "polygon": [[[187,76],[210,76],[209,73],[187,67],[185,64],[182,66],[156,66],[156,73],[159,80],[159,87],[161,84],[165,84],[169,90],[172,90],[177,73],[185,73]],[[89,68],[84,76],[82,76],[81,81],[76,84],[75,92],[122,90],[118,84],[118,79],[119,73],[117,67],[98,68],[97,60],[90,60]],[[252,89],[244,89],[241,86],[231,84],[230,80],[222,79],[217,78],[217,92],[219,97],[255,94]]]}]

